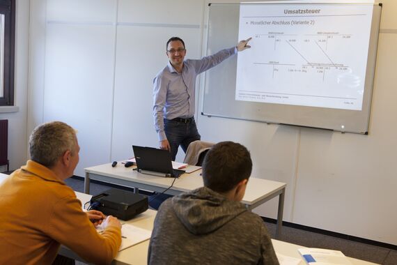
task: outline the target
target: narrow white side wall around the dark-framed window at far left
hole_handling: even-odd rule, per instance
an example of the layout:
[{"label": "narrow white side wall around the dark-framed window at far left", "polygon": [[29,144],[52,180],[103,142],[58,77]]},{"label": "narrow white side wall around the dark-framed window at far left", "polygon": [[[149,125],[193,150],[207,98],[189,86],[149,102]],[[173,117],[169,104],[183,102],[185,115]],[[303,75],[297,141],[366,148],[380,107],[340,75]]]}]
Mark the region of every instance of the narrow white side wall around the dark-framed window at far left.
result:
[{"label": "narrow white side wall around the dark-framed window at far left", "polygon": [[[26,162],[26,120],[29,59],[29,1],[16,1],[15,20],[15,105],[17,112],[3,113],[0,107],[0,119],[8,119],[8,160],[10,170]],[[3,108],[4,109],[4,108]],[[0,167],[0,172],[7,167]]]}]

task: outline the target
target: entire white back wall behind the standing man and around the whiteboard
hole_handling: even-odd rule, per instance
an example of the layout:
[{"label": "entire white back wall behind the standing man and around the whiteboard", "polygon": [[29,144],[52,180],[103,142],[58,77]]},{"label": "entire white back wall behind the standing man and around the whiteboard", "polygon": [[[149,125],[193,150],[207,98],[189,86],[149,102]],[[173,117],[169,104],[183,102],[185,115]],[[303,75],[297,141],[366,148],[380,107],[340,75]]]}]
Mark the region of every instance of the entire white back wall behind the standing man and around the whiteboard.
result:
[{"label": "entire white back wall behind the standing man and around the whiteboard", "polygon": [[[253,176],[287,183],[284,220],[397,245],[397,3],[383,3],[369,135],[196,118],[203,139],[247,146]],[[75,126],[80,176],[84,167],[128,158],[132,144],[157,146],[152,81],[166,65],[165,42],[180,36],[187,56],[200,57],[207,6],[205,0],[34,1],[26,135],[52,119]],[[256,212],[275,218],[276,199]]]}]

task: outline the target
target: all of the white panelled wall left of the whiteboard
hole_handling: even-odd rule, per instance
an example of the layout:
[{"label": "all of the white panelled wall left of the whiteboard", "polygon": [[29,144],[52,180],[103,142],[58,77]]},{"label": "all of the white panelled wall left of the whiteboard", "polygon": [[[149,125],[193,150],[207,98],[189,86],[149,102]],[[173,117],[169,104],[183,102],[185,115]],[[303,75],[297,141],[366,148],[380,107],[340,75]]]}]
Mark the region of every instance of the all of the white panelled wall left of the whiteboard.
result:
[{"label": "all of the white panelled wall left of the whiteboard", "polygon": [[52,120],[77,128],[79,176],[84,167],[130,158],[132,144],[157,146],[152,84],[166,65],[169,36],[178,31],[191,43],[189,56],[200,56],[203,2],[173,1],[167,13],[152,6],[169,7],[160,0],[40,0],[31,7],[28,130]]}]

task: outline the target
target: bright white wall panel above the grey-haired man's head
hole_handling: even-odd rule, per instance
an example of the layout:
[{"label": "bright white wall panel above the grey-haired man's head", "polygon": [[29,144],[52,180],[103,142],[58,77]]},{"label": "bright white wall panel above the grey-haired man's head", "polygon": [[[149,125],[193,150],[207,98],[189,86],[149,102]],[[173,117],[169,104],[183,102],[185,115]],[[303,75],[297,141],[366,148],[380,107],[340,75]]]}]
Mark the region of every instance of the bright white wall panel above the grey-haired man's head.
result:
[{"label": "bright white wall panel above the grey-haired man's head", "polygon": [[77,128],[77,174],[110,159],[116,1],[47,1],[43,121]]}]

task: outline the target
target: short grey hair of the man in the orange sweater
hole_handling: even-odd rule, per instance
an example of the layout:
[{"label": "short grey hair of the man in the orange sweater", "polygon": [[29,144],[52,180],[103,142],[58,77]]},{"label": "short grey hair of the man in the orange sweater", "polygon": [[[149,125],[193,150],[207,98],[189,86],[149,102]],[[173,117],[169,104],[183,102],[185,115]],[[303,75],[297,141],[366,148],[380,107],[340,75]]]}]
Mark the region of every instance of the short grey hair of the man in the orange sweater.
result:
[{"label": "short grey hair of the man in the orange sweater", "polygon": [[61,121],[43,123],[29,137],[31,160],[45,167],[54,166],[67,150],[75,155],[76,148],[76,131]]}]

